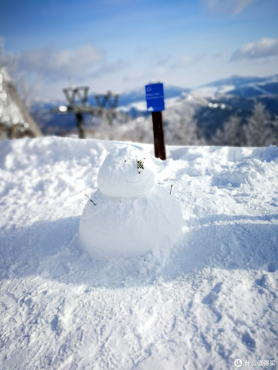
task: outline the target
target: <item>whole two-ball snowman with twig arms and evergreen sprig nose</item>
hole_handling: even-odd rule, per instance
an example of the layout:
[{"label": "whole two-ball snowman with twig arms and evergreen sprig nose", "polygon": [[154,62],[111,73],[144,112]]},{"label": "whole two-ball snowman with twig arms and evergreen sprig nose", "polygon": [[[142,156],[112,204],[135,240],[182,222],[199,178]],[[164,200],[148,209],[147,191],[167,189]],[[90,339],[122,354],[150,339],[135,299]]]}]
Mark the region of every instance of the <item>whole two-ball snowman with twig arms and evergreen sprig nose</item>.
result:
[{"label": "whole two-ball snowman with twig arms and evergreen sprig nose", "polygon": [[99,188],[80,219],[80,240],[90,256],[133,258],[175,243],[181,206],[157,178],[149,155],[132,145],[107,155],[97,175]]}]

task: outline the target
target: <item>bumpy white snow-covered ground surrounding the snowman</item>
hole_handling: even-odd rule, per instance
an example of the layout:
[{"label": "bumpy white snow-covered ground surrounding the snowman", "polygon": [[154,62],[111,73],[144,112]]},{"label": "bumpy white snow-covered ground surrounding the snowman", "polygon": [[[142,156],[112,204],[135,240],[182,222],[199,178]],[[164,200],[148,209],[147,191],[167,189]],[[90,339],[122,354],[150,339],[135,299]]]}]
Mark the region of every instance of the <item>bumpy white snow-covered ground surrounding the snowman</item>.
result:
[{"label": "bumpy white snow-covered ground surrounding the snowman", "polygon": [[154,162],[181,204],[182,239],[164,255],[96,261],[79,220],[117,145],[0,143],[1,369],[277,366],[278,148],[167,147]]}]

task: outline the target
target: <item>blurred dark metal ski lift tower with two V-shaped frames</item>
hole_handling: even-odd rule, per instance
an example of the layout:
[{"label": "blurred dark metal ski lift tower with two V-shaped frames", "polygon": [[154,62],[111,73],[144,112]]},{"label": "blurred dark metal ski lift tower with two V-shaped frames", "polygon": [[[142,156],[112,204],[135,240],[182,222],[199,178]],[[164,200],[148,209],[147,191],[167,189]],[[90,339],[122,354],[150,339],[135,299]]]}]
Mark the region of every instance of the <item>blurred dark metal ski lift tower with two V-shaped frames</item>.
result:
[{"label": "blurred dark metal ski lift tower with two V-shaped frames", "polygon": [[117,114],[115,108],[118,104],[119,94],[112,94],[111,91],[108,91],[104,95],[95,95],[97,107],[92,107],[87,102],[89,86],[72,86],[64,88],[62,91],[65,94],[67,105],[60,105],[59,108],[54,108],[52,112],[75,114],[80,139],[85,138],[83,114],[97,116],[105,114],[109,125],[112,126],[112,118]]}]

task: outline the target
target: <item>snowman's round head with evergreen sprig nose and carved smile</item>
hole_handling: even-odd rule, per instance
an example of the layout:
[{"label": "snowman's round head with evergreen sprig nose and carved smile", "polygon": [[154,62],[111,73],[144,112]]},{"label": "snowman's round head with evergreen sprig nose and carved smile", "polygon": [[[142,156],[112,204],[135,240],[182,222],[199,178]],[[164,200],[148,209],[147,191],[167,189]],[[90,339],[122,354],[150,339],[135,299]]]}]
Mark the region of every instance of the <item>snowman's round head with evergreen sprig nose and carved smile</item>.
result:
[{"label": "snowman's round head with evergreen sprig nose and carved smile", "polygon": [[99,169],[97,183],[107,197],[138,198],[152,190],[157,176],[149,155],[127,145],[107,155]]}]

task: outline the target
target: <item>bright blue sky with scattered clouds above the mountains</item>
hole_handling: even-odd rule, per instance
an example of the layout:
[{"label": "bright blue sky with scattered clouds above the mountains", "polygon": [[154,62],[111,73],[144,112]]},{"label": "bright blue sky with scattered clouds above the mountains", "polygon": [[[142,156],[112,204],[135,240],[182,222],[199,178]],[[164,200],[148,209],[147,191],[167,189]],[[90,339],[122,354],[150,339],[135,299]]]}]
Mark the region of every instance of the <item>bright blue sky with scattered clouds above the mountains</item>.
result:
[{"label": "bright blue sky with scattered clouds above the mountains", "polygon": [[278,73],[277,0],[2,0],[5,53],[36,94],[128,91]]}]

